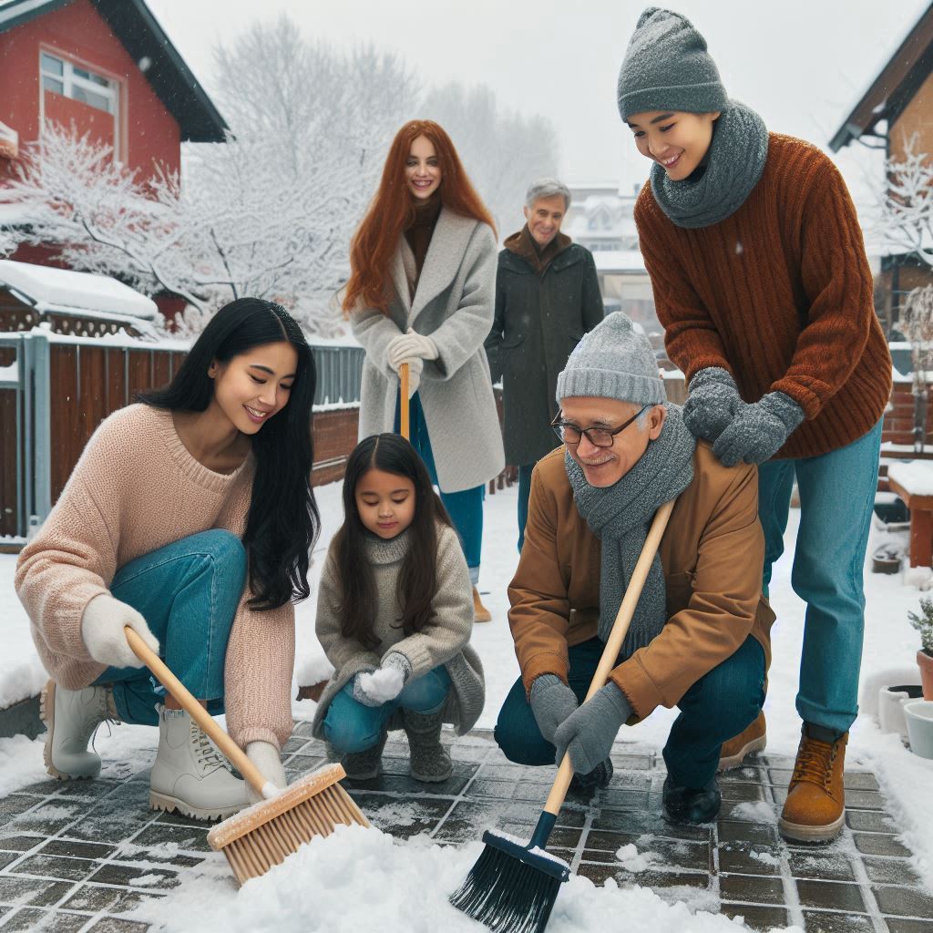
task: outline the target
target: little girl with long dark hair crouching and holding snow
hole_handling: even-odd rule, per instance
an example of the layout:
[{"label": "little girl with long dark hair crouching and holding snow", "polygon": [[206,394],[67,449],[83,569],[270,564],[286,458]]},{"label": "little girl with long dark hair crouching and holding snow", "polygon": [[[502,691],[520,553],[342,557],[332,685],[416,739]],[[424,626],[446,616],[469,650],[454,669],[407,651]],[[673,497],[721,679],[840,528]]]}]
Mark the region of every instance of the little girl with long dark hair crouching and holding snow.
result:
[{"label": "little girl with long dark hair crouching and holding snow", "polygon": [[463,735],[482,712],[482,665],[469,646],[473,603],[463,551],[425,464],[396,434],[347,461],[341,530],[327,551],[316,631],[335,673],[313,731],[357,780],[380,773],[386,733],[402,728],[411,776],[443,781],[442,722]]}]

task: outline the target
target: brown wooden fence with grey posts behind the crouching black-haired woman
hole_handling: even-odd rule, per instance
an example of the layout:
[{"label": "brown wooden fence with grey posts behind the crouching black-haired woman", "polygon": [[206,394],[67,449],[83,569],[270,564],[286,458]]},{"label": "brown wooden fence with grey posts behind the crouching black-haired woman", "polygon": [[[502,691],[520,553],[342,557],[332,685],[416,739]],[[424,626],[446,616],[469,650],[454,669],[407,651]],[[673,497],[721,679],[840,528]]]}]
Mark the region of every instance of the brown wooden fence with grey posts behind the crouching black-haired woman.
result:
[{"label": "brown wooden fence with grey posts behind the crouching black-haired woman", "polygon": [[[328,481],[355,442],[355,412],[341,410],[358,405],[363,350],[312,350],[314,405],[321,411],[315,439],[320,429],[316,446],[326,458],[315,468],[326,466],[318,473]],[[0,544],[5,538],[21,543],[30,524],[45,519],[97,425],[137,392],[169,382],[187,352],[184,341],[151,343],[123,334],[91,339],[45,327],[0,334]],[[334,419],[339,429],[326,424]]]}]

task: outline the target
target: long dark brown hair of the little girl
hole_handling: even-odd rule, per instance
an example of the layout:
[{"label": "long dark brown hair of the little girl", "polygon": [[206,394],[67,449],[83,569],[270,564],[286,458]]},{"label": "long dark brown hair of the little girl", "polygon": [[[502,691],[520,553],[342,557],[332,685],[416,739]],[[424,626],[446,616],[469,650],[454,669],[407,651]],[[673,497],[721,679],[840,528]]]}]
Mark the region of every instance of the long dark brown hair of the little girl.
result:
[{"label": "long dark brown hair of the little girl", "polygon": [[421,632],[434,618],[431,604],[438,591],[438,522],[450,525],[447,510],[434,492],[424,461],[404,438],[378,434],[361,440],[347,460],[343,477],[343,524],[335,536],[341,592],[341,634],[363,648],[379,645],[373,632],[378,593],[366,556],[371,537],[356,508],[356,484],[370,469],[403,476],[414,484],[411,542],[398,577],[399,627],[406,635]]}]

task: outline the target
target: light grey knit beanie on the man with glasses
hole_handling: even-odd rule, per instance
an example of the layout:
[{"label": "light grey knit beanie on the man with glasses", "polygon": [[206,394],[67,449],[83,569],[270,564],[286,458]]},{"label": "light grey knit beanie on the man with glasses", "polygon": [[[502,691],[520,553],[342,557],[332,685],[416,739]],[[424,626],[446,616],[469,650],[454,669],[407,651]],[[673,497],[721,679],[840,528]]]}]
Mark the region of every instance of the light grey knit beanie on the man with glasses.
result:
[{"label": "light grey knit beanie on the man with glasses", "polygon": [[570,397],[615,398],[620,402],[661,405],[666,400],[651,344],[636,334],[620,311],[583,336],[557,377],[557,401]]}]

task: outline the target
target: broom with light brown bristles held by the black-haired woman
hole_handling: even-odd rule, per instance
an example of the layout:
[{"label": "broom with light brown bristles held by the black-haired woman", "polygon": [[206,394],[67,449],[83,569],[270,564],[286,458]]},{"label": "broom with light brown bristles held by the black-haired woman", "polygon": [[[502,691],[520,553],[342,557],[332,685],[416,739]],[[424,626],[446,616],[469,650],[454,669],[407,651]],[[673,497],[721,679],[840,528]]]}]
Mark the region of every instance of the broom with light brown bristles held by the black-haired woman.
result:
[{"label": "broom with light brown bristles held by the black-haired woman", "polygon": [[207,834],[211,848],[227,856],[240,884],[265,874],[273,865],[280,865],[302,842],[309,842],[314,836],[329,836],[338,824],[369,826],[350,795],[337,783],[346,776],[341,765],[327,765],[279,790],[263,777],[240,746],[216,724],[143,639],[129,626],[123,632],[136,657],[159,678],[161,685],[263,798],[218,823]]}]

